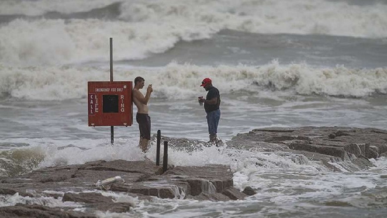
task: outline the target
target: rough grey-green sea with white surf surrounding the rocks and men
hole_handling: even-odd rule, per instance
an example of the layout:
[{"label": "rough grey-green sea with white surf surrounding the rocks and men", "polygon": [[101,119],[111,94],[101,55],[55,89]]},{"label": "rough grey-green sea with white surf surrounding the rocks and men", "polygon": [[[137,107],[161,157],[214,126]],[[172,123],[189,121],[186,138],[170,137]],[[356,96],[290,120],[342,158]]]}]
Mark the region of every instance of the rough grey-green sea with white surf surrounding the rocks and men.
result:
[{"label": "rough grey-green sea with white surf surrounding the rocks and men", "polygon": [[[0,2],[0,174],[142,160],[137,125],[87,126],[87,81],[153,84],[152,133],[207,140],[197,96],[222,95],[219,136],[261,127],[386,129],[385,0],[4,0]],[[133,111],[136,112],[135,109]],[[71,145],[71,146],[68,146]],[[152,148],[149,156],[155,154]],[[258,194],[238,202],[136,202],[134,217],[383,217],[387,160],[360,172],[270,153],[232,160],[171,151],[176,165],[229,164]],[[262,162],[262,166],[255,163]],[[55,199],[51,206],[61,206]],[[25,202],[0,199],[0,206]],[[103,214],[101,217],[116,215]],[[124,216],[124,215],[122,215]],[[124,216],[124,217],[125,217]]]}]

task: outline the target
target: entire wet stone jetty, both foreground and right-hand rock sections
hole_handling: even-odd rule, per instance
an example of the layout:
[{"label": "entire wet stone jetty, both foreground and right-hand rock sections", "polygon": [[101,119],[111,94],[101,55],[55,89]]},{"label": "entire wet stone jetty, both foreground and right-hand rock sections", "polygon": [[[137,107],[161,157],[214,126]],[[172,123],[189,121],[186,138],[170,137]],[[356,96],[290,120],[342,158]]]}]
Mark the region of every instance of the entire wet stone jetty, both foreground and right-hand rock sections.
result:
[{"label": "entire wet stone jetty, both foreground and right-hand rock sections", "polygon": [[[206,143],[167,138],[172,149],[200,150]],[[374,128],[299,127],[262,128],[238,134],[226,142],[227,149],[253,152],[291,153],[323,163],[333,171],[356,171],[373,166],[369,159],[387,156],[387,131]],[[341,164],[342,167],[332,164]],[[125,182],[101,187],[101,179],[120,176]],[[151,201],[156,198],[230,201],[256,194],[251,187],[243,192],[233,187],[233,172],[226,165],[173,166],[163,172],[152,161],[95,161],[79,165],[47,167],[19,176],[0,177],[0,197],[20,195],[29,198],[52,197],[76,202],[87,210],[71,207],[16,204],[0,207],[0,217],[93,218],[96,211],[125,213],[133,207],[104,191],[124,193]]]}]

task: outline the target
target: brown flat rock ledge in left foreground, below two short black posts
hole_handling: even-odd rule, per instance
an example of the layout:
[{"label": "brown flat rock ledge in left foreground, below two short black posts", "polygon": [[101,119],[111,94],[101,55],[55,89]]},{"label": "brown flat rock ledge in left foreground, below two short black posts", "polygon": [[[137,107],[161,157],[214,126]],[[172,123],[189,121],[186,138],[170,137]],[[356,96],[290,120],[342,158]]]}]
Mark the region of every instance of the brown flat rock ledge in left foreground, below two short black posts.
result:
[{"label": "brown flat rock ledge in left foreground, below two short black posts", "polygon": [[[232,188],[232,172],[223,165],[172,167],[162,174],[162,167],[151,161],[111,162],[97,161],[79,165],[47,167],[15,177],[0,178],[0,194],[34,197],[62,198],[83,204],[88,211],[110,211],[125,213],[132,207],[129,203],[116,203],[113,197],[90,192],[101,189],[95,184],[115,176],[121,176],[125,183],[113,183],[109,191],[125,192],[132,197],[151,200],[148,196],[158,198],[192,198],[197,200],[230,200],[222,194],[224,189]],[[28,192],[27,192],[28,190]],[[64,195],[55,196],[44,191],[62,191]],[[79,193],[74,193],[79,192]],[[237,192],[237,191],[235,191]],[[237,195],[237,194],[234,194]],[[233,196],[234,196],[233,195]],[[200,197],[201,196],[201,197]],[[55,208],[18,204],[2,207],[0,213],[6,217],[82,217],[69,214]],[[67,208],[66,210],[70,210]],[[84,215],[93,217],[94,215]]]}]

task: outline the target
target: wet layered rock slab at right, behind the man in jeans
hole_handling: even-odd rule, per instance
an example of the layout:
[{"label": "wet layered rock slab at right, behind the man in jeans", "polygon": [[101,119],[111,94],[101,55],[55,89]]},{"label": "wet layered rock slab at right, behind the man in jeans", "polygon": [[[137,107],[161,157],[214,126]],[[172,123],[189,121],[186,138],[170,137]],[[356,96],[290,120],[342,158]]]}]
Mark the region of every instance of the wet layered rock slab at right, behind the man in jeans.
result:
[{"label": "wet layered rock slab at right, behind the man in jeans", "polygon": [[[378,158],[387,152],[387,131],[375,128],[351,127],[299,127],[262,128],[238,134],[227,142],[228,147],[260,152],[291,152],[305,155],[309,160],[320,161],[332,170],[339,168],[330,162],[365,164],[358,158]],[[368,163],[366,164],[368,165]]]}]

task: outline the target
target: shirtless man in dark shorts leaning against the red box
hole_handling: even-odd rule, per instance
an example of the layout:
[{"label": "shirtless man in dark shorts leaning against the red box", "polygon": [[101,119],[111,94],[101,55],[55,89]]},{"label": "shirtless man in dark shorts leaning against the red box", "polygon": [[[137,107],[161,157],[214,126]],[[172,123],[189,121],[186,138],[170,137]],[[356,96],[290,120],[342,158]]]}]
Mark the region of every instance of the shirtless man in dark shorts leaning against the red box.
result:
[{"label": "shirtless man in dark shorts leaning against the red box", "polygon": [[134,79],[133,87],[133,102],[137,106],[136,121],[140,130],[140,142],[139,147],[142,152],[146,152],[148,149],[148,142],[150,140],[150,116],[148,115],[148,101],[150,94],[153,92],[152,85],[149,85],[146,89],[146,95],[142,95],[140,89],[144,87],[144,78],[137,76]]}]

